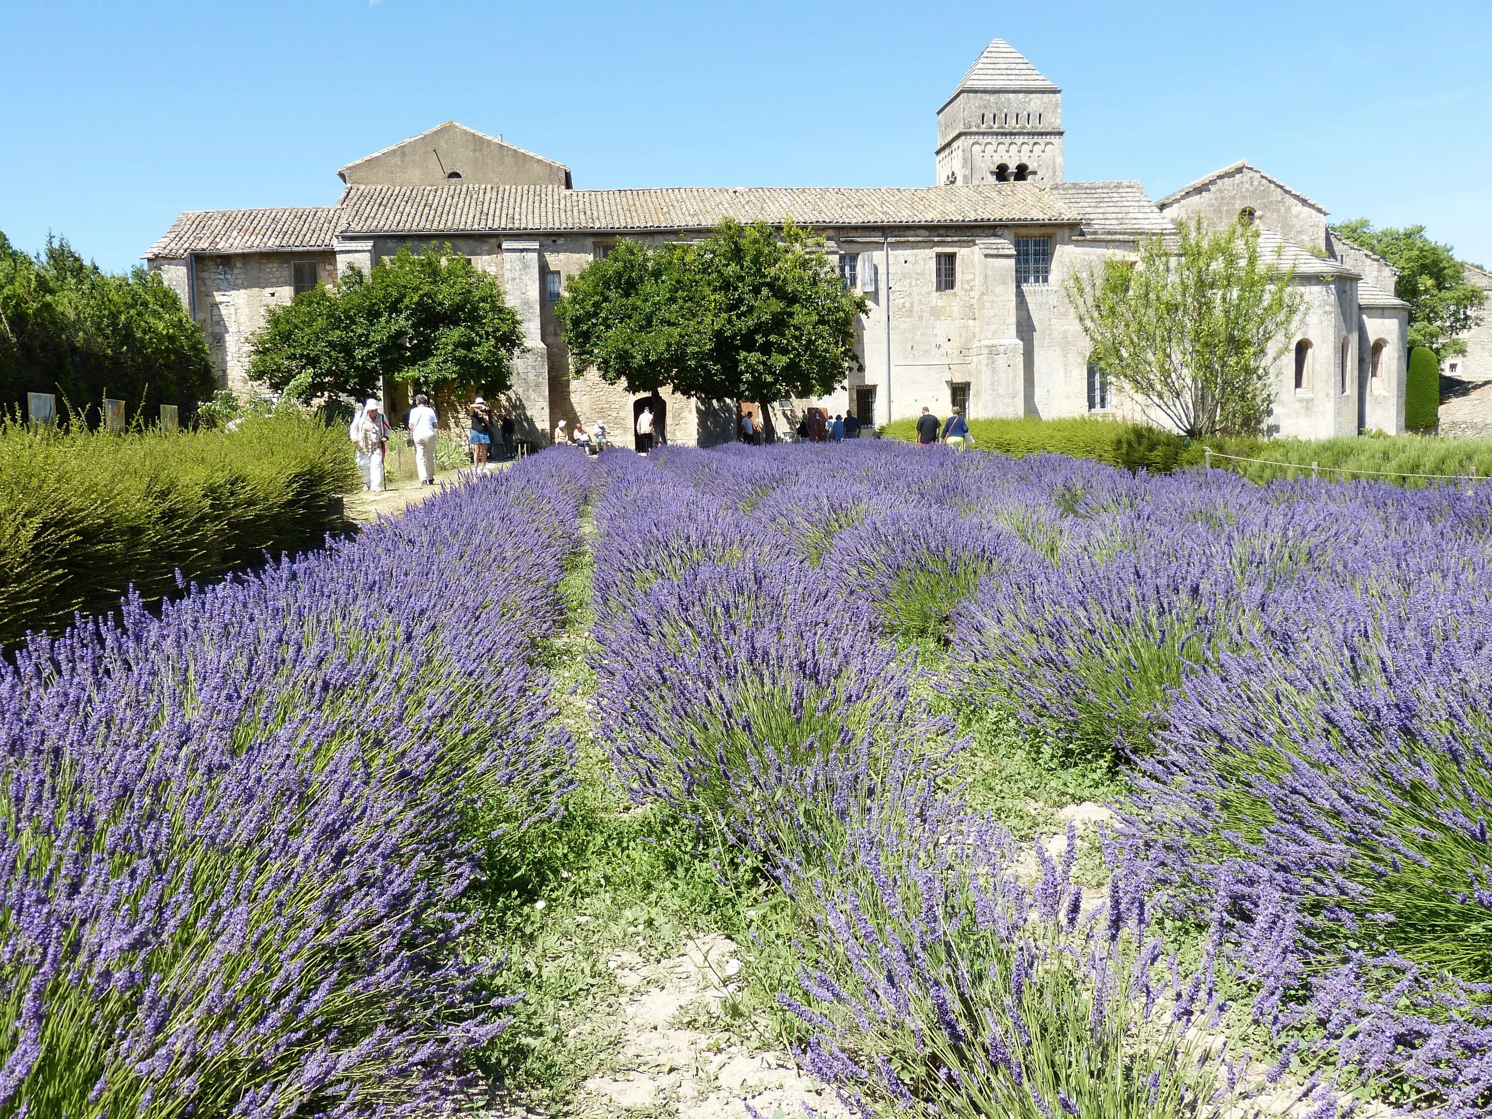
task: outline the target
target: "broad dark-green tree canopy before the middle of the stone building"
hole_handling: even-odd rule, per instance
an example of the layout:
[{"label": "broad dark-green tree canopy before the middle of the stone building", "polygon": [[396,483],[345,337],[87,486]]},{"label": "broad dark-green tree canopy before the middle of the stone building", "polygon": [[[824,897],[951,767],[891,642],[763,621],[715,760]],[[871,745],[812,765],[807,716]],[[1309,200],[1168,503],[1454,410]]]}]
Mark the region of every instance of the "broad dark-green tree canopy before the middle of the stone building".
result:
[{"label": "broad dark-green tree canopy before the middle of the stone building", "polygon": [[725,221],[698,242],[619,243],[555,313],[576,376],[697,400],[818,397],[844,382],[865,300],[791,221]]}]

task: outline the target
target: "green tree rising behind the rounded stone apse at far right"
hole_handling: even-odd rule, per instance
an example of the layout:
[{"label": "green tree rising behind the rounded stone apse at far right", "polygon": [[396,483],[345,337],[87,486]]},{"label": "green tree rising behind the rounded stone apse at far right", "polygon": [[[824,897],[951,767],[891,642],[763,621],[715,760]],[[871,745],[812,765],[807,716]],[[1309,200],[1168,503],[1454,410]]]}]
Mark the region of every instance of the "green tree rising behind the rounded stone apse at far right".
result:
[{"label": "green tree rising behind the rounded stone apse at far right", "polygon": [[1367,218],[1332,225],[1331,231],[1398,270],[1394,294],[1410,306],[1410,346],[1428,346],[1441,358],[1467,352],[1465,340],[1455,336],[1476,324],[1486,292],[1467,283],[1465,269],[1449,245],[1426,237],[1423,225],[1374,230]]}]

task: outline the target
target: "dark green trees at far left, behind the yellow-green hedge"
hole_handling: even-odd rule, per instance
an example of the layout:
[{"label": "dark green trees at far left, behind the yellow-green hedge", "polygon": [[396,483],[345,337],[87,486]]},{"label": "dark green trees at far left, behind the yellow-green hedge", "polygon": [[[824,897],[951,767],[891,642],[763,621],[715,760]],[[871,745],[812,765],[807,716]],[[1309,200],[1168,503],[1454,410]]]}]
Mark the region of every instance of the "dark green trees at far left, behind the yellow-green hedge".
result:
[{"label": "dark green trees at far left, behind the yellow-green hedge", "polygon": [[51,392],[93,421],[104,397],[131,421],[189,416],[213,388],[207,340],[160,275],[101,272],[63,239],[28,257],[0,233],[0,407]]}]

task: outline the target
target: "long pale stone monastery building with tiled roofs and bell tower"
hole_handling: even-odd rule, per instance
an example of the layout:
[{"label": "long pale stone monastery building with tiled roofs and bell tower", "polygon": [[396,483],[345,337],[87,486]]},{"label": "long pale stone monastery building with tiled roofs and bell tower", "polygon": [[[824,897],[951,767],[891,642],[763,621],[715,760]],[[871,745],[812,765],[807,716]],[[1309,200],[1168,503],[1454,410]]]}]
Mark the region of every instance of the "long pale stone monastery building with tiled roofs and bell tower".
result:
[{"label": "long pale stone monastery building with tiled roofs and bell tower", "polygon": [[[585,191],[564,164],[446,122],[343,167],[336,206],[182,213],[146,261],[203,325],[222,383],[243,392],[267,309],[349,264],[449,242],[501,280],[524,324],[509,406],[521,436],[543,442],[558,419],[628,433],[643,407],[594,373],[571,376],[554,316],[567,278],[624,237],[791,218],[827,239],[868,298],[865,370],[822,401],[764,401],[783,430],[813,403],[873,424],[955,404],[976,418],[1134,415],[1089,363],[1064,279],[1179,221],[1243,215],[1306,295],[1276,370],[1271,430],[1402,431],[1408,307],[1391,294],[1389,264],[1335,240],[1320,204],[1246,163],[1159,201],[1138,182],[1067,182],[1062,142],[1062,91],[997,39],[937,110],[934,186]],[[403,412],[401,400],[388,407]],[[665,397],[662,409],[668,442],[736,430],[734,401]]]}]

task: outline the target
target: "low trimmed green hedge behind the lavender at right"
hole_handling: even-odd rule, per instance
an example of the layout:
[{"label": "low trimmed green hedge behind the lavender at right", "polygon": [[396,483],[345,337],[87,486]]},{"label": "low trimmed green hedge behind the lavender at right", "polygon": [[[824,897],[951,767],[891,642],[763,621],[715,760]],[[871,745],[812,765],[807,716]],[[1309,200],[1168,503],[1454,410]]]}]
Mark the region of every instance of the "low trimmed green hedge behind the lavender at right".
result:
[{"label": "low trimmed green hedge behind the lavender at right", "polygon": [[[974,446],[1015,458],[1034,454],[1092,458],[1129,470],[1168,474],[1198,467],[1204,443],[1143,424],[1116,419],[971,419]],[[888,439],[915,440],[913,421],[898,419],[882,430]],[[1492,439],[1437,439],[1428,436],[1341,436],[1337,439],[1209,439],[1213,466],[1234,470],[1255,482],[1310,474],[1352,480],[1382,474],[1382,480],[1423,485],[1434,479],[1414,474],[1470,476],[1492,479]],[[1265,460],[1235,463],[1220,455]],[[1401,474],[1404,477],[1395,477]]]}]

